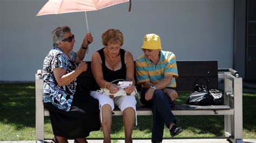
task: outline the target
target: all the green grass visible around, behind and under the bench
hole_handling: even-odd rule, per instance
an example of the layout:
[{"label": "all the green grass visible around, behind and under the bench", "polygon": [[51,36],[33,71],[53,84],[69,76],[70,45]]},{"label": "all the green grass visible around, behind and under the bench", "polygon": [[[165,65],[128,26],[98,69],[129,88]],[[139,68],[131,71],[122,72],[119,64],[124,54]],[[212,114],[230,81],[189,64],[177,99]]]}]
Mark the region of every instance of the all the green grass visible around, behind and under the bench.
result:
[{"label": "all the green grass visible around, behind and under the bench", "polygon": [[[187,92],[179,92],[177,104],[185,104]],[[0,141],[35,140],[35,84],[0,84]],[[243,94],[244,139],[256,139],[256,94]],[[184,130],[179,137],[220,137],[224,135],[223,116],[176,116]],[[49,117],[45,118],[45,137],[52,138]],[[152,117],[138,116],[133,138],[151,138]],[[124,138],[122,116],[113,116],[112,138]],[[165,128],[164,137],[170,137]],[[89,138],[103,138],[102,131]]]}]

